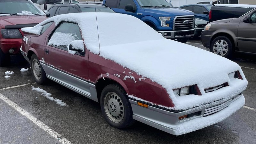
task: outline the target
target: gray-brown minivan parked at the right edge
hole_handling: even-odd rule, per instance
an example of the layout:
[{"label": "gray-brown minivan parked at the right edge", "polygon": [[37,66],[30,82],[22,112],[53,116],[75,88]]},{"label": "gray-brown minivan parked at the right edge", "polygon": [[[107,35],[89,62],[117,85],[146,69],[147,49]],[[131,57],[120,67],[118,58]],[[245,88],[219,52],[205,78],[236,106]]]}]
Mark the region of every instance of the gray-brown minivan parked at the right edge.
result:
[{"label": "gray-brown minivan parked at the right edge", "polygon": [[226,58],[235,51],[256,54],[256,8],[239,18],[209,23],[201,41],[211,52]]}]

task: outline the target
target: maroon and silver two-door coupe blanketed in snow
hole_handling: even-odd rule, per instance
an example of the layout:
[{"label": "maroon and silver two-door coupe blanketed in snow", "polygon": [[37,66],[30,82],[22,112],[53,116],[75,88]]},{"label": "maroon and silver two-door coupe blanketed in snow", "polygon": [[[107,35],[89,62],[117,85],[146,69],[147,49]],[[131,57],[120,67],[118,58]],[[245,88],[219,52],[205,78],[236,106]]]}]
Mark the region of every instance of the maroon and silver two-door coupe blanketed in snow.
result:
[{"label": "maroon and silver two-door coupe blanketed in snow", "polygon": [[28,41],[20,51],[36,82],[49,78],[99,102],[116,128],[137,120],[181,135],[244,106],[247,80],[238,64],[165,39],[133,16],[69,13],[21,30]]}]

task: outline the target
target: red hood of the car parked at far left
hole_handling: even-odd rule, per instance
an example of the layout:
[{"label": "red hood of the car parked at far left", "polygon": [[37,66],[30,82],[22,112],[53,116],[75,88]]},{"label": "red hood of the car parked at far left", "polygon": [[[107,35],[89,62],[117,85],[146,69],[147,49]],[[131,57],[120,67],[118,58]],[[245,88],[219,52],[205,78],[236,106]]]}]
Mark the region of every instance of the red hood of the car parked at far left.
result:
[{"label": "red hood of the car parked at far left", "polygon": [[[8,25],[17,25],[17,24],[34,24],[40,23],[46,20],[46,16],[0,16],[0,26],[5,27]],[[1,28],[1,27],[0,27]]]}]

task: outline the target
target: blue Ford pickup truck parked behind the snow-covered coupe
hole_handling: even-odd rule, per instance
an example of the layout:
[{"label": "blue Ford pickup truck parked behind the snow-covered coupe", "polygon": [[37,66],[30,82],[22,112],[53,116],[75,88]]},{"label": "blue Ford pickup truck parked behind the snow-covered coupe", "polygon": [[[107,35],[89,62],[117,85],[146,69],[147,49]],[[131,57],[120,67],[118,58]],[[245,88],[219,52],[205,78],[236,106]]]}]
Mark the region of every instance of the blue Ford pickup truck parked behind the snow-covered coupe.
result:
[{"label": "blue Ford pickup truck parked behind the snow-covered coupe", "polygon": [[104,0],[103,4],[137,17],[168,39],[186,43],[195,34],[194,13],[173,8],[166,0]]}]

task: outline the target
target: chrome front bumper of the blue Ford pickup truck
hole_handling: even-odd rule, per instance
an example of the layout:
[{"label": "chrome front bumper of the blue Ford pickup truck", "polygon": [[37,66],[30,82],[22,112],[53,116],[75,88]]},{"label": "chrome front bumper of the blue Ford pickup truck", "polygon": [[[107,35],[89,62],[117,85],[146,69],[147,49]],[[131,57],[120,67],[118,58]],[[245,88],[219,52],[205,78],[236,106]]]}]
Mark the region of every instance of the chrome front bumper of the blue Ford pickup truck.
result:
[{"label": "chrome front bumper of the blue Ford pickup truck", "polygon": [[180,30],[180,31],[157,31],[158,33],[161,33],[164,38],[186,38],[191,37],[195,35],[195,28],[190,30]]}]

